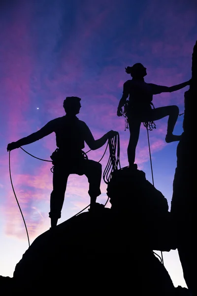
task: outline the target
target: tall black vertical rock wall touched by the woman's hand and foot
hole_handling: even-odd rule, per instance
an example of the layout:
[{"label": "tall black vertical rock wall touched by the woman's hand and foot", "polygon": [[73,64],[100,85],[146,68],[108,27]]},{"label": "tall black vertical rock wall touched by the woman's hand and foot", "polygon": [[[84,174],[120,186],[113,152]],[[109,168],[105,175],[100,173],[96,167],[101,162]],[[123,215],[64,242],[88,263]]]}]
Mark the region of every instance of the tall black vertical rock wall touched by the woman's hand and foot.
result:
[{"label": "tall black vertical rock wall touched by the woman's hand and foot", "polygon": [[196,286],[196,180],[194,163],[196,151],[194,140],[194,110],[197,100],[197,43],[192,57],[193,82],[189,91],[185,92],[184,132],[177,146],[177,167],[173,182],[171,214],[175,233],[178,234],[178,252],[184,278],[193,295],[197,295]]}]

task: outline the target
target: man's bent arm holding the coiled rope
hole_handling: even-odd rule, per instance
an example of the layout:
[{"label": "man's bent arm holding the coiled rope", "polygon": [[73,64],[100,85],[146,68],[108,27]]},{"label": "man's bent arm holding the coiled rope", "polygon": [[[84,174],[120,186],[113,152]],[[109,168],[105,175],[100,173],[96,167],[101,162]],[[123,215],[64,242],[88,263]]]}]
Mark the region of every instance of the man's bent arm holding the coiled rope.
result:
[{"label": "man's bent arm holding the coiled rope", "polygon": [[93,137],[93,134],[91,133],[89,127],[86,124],[84,125],[84,131],[85,131],[85,139],[84,140],[85,140],[86,144],[92,150],[99,149],[100,147],[102,147],[106,143],[106,141],[108,139],[113,138],[117,134],[117,132],[111,130],[108,133],[106,133],[104,136],[102,136],[100,139],[95,140]]}]

